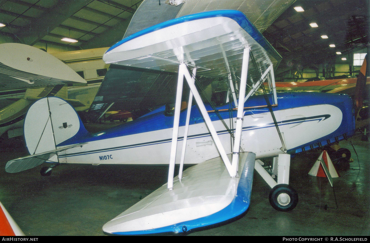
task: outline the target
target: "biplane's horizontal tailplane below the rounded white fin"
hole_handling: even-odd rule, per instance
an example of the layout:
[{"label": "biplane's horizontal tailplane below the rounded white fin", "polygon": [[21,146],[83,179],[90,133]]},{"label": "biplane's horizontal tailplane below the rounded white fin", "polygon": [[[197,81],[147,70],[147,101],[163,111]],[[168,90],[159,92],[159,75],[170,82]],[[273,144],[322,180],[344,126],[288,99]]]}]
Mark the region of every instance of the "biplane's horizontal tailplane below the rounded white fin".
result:
[{"label": "biplane's horizontal tailplane below the rounded white fin", "polygon": [[13,159],[9,161],[8,163],[6,163],[5,171],[9,173],[17,173],[20,171],[26,171],[28,169],[32,169],[36,166],[41,165],[45,161],[47,161],[50,158],[50,155],[52,154],[56,154],[57,152],[60,152],[60,151],[82,146],[84,144],[87,144],[87,143],[74,144],[74,145],[66,146],[66,147],[59,148],[59,149],[54,149],[54,150],[43,152],[43,153],[38,153],[38,154],[29,155],[29,156],[18,158],[18,159]]}]

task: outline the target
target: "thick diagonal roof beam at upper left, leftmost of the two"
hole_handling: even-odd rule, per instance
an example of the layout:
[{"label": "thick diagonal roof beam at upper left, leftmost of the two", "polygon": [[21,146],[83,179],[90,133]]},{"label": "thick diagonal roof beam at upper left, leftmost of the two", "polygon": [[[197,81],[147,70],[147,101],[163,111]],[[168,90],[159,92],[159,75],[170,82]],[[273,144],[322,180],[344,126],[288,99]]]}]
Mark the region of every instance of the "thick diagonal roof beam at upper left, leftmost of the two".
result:
[{"label": "thick diagonal roof beam at upper left, leftmost of the two", "polygon": [[17,37],[21,43],[33,45],[90,2],[91,0],[60,0],[50,11],[32,22],[29,29],[17,33]]}]

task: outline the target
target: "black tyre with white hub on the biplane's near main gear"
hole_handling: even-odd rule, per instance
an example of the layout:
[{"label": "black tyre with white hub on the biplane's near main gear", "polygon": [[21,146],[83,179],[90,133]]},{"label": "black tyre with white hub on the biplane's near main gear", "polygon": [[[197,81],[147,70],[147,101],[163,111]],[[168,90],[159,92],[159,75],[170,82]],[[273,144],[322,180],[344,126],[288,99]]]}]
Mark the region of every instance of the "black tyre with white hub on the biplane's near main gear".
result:
[{"label": "black tyre with white hub on the biplane's near main gear", "polygon": [[271,189],[269,201],[274,209],[287,212],[297,206],[298,193],[287,184],[278,184]]}]

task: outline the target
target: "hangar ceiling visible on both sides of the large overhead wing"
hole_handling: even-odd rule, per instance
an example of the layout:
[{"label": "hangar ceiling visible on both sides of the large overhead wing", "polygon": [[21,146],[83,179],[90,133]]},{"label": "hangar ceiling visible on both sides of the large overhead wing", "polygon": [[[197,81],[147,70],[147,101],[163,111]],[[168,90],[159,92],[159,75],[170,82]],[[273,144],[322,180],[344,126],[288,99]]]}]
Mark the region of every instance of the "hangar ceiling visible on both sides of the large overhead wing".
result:
[{"label": "hangar ceiling visible on both sides of the large overhead wing", "polygon": [[[221,0],[220,0],[221,1]],[[142,0],[0,0],[0,27],[14,42],[77,49],[108,47],[122,39]],[[164,0],[158,0],[164,4]],[[294,7],[302,6],[304,12]],[[317,65],[369,43],[366,0],[295,1],[263,35],[286,63]],[[311,27],[310,23],[318,27]],[[321,36],[327,35],[327,39]],[[61,41],[63,37],[77,43]],[[329,47],[335,44],[336,47]]]}]

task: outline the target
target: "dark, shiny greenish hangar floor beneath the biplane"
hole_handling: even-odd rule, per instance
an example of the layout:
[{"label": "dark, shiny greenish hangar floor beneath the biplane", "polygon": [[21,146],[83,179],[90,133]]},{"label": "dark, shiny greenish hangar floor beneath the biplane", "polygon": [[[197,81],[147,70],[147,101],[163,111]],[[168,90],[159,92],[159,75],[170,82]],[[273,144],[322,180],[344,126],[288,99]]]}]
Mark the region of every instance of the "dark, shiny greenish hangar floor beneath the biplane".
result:
[{"label": "dark, shiny greenish hangar floor beneath the biplane", "polygon": [[[289,183],[299,195],[295,209],[273,209],[270,188],[255,173],[245,214],[188,235],[369,236],[369,142],[358,134],[340,146],[353,162],[337,168],[334,189],[327,178],[307,174],[320,151],[300,153],[290,165]],[[0,154],[0,201],[26,236],[102,236],[106,222],[167,182],[168,166],[61,165],[48,177],[40,175],[41,166],[6,173],[7,161],[27,155],[21,137],[1,139]]]}]

